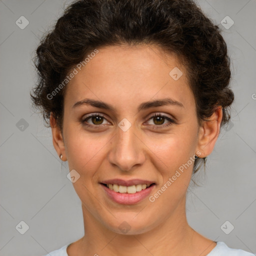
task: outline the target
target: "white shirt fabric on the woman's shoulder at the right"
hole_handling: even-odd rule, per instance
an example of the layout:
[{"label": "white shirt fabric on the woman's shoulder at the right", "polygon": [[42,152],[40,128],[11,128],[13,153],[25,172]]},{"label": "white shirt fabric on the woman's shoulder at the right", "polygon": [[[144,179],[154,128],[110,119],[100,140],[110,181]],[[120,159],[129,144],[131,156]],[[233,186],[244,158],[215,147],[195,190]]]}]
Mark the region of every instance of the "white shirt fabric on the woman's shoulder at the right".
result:
[{"label": "white shirt fabric on the woman's shoulder at the right", "polygon": [[206,256],[255,256],[255,254],[242,249],[229,248],[224,242],[218,241]]}]

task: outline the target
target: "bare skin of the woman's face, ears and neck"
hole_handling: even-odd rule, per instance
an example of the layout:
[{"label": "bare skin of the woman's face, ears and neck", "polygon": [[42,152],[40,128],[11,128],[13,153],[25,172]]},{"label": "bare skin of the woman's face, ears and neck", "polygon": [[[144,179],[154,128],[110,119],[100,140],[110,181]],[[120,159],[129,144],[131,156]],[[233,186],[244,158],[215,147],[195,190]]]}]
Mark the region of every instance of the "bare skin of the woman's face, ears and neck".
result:
[{"label": "bare skin of the woman's face, ears and neck", "polygon": [[[64,96],[63,130],[50,117],[54,148],[69,170],[80,178],[73,183],[81,200],[84,233],[67,247],[69,256],[87,255],[206,255],[216,243],[193,230],[185,213],[186,191],[193,164],[157,198],[132,204],[109,199],[99,184],[110,178],[141,178],[156,183],[150,195],[172,177],[189,157],[211,153],[222,118],[219,106],[198,125],[194,96],[185,68],[174,54],[153,45],[105,46],[70,80]],[[178,67],[183,75],[174,80],[169,72]],[[154,106],[137,111],[145,101],[170,97],[183,104]],[[114,111],[83,104],[90,98],[111,104]],[[89,113],[101,113],[103,120],[82,120]],[[159,113],[174,118],[151,118]],[[126,118],[125,132],[118,123]],[[100,119],[99,119],[100,120]],[[101,126],[100,126],[101,125]],[[99,127],[100,126],[100,127]],[[118,227],[126,221],[123,233]]]}]

